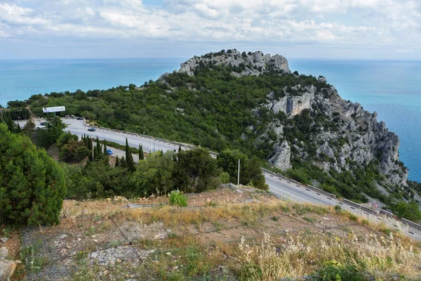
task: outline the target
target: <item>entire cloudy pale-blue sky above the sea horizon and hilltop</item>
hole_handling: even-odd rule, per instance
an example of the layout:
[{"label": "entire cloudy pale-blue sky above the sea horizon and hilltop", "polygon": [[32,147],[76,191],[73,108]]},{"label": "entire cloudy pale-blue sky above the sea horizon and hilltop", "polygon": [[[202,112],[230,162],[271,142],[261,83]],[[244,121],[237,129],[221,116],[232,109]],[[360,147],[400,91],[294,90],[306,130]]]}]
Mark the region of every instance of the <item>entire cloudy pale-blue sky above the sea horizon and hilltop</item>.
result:
[{"label": "entire cloudy pale-blue sky above the sea horizon and hilltop", "polygon": [[421,0],[0,0],[0,59],[420,60]]}]

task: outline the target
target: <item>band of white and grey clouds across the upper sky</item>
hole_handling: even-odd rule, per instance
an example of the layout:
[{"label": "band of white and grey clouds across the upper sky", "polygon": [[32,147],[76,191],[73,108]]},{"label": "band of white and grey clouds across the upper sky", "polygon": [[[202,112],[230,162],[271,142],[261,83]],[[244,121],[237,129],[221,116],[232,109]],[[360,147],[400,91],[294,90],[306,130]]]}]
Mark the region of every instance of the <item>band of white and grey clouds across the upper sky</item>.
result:
[{"label": "band of white and grey clouds across the upper sky", "polygon": [[417,49],[415,0],[0,0],[0,37]]}]

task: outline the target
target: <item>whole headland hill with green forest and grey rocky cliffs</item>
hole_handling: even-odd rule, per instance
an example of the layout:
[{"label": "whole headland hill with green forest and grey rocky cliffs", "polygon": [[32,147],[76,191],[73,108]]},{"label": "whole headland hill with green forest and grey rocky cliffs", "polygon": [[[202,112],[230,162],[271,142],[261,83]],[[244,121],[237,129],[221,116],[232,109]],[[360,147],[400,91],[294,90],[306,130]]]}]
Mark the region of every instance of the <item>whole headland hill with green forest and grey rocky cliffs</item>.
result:
[{"label": "whole headland hill with green forest and grey rocky cliffs", "polygon": [[[281,55],[208,53],[142,86],[34,95],[10,107],[62,115],[212,150],[236,148],[304,183],[360,202],[410,194],[399,138],[323,77],[291,73]],[[382,185],[382,192],[377,189]],[[389,196],[390,195],[390,196]]]}]

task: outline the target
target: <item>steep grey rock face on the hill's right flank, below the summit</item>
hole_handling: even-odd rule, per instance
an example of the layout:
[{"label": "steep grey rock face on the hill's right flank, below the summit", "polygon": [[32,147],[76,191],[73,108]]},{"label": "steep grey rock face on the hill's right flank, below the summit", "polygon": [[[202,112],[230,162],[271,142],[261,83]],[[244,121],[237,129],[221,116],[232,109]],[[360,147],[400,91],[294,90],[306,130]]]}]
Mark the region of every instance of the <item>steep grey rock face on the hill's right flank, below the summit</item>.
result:
[{"label": "steep grey rock face on the hill's right flank, below the summit", "polygon": [[[378,169],[393,185],[406,186],[408,170],[399,162],[399,137],[390,132],[384,122],[377,122],[377,113],[363,110],[359,103],[352,103],[340,98],[335,87],[326,84],[326,78],[320,77],[324,88],[300,85],[293,87],[299,93],[288,93],[283,89],[281,98],[275,98],[274,92],[267,95],[267,103],[262,105],[275,114],[284,112],[289,118],[307,109],[312,116],[320,117],[324,124],[315,122],[312,128],[312,144],[316,148],[316,158],[307,159],[326,171],[335,169],[338,172],[349,171],[351,166],[366,166],[378,162]],[[258,112],[258,110],[256,111]],[[269,126],[268,126],[269,127]],[[290,148],[283,138],[274,143],[274,155],[269,162],[285,169],[290,165],[291,157],[309,155],[305,145],[294,145]],[[300,139],[288,140],[300,143]]]}]

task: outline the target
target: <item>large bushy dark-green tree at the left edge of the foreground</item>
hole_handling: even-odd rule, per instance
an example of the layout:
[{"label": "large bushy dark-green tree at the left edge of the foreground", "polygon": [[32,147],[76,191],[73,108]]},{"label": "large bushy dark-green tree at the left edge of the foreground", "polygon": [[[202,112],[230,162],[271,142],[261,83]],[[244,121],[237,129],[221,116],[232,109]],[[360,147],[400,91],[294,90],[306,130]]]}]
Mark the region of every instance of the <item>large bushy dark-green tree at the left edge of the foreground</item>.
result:
[{"label": "large bushy dark-green tree at the left edge of the foreground", "polygon": [[66,194],[60,166],[26,136],[0,124],[0,219],[15,225],[60,223]]}]

